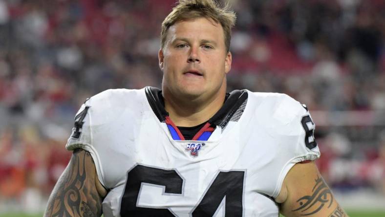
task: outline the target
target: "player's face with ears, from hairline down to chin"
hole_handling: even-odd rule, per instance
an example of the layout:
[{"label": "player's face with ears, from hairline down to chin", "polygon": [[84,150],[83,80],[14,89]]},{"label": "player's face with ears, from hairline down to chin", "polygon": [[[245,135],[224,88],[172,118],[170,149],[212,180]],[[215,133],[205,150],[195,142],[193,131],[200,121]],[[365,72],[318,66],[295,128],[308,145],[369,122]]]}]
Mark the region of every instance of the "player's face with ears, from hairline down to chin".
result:
[{"label": "player's face with ears, from hairline down to chin", "polygon": [[231,60],[219,23],[206,18],[176,22],[159,51],[162,88],[187,99],[209,99],[220,91],[224,93]]}]

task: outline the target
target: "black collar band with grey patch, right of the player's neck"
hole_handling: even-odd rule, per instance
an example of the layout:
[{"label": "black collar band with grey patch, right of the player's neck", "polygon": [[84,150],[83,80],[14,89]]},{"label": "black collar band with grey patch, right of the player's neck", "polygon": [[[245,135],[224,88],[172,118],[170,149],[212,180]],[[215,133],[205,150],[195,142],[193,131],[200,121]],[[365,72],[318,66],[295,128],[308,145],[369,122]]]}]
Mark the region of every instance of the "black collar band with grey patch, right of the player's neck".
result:
[{"label": "black collar band with grey patch, right of the player's neck", "polygon": [[220,128],[226,127],[235,111],[247,100],[247,90],[233,90],[225,104],[220,108],[209,122]]}]

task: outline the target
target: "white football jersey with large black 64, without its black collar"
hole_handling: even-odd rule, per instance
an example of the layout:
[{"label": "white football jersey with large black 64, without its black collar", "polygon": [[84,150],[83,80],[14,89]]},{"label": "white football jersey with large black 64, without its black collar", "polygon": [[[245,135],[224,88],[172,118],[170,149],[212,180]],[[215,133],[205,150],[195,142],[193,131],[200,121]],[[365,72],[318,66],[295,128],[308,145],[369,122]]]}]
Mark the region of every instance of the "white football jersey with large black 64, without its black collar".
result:
[{"label": "white football jersey with large black 64, without its black collar", "polygon": [[109,190],[105,217],[278,217],[285,175],[320,156],[307,109],[285,94],[244,90],[239,117],[229,112],[207,141],[192,141],[173,138],[147,90],[91,97],[66,145],[91,153]]}]

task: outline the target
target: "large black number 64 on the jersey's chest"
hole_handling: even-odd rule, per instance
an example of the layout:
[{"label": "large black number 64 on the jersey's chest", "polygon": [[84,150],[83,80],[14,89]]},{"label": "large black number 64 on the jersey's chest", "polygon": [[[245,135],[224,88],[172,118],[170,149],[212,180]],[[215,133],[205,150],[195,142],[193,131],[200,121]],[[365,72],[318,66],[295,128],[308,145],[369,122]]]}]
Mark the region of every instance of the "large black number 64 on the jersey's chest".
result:
[{"label": "large black number 64 on the jersey's chest", "polygon": [[[192,217],[213,216],[225,196],[225,216],[241,217],[244,174],[244,171],[219,172],[205,195],[192,210]],[[136,165],[128,172],[120,216],[174,217],[175,215],[169,209],[136,206],[142,183],[164,186],[164,193],[168,194],[182,194],[183,190],[183,179],[175,170]]]}]

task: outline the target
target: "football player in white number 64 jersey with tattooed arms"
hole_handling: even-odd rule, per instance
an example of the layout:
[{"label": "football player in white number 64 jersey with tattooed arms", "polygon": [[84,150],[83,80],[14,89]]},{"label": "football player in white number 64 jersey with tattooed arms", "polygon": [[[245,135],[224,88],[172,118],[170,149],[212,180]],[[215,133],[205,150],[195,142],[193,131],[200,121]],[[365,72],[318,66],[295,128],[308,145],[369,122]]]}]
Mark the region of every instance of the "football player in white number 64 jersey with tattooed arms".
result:
[{"label": "football player in white number 64 jersey with tattooed arms", "polygon": [[235,13],[180,0],[162,23],[162,89],[106,90],[75,117],[46,217],[342,217],[305,106],[226,93]]}]

